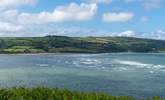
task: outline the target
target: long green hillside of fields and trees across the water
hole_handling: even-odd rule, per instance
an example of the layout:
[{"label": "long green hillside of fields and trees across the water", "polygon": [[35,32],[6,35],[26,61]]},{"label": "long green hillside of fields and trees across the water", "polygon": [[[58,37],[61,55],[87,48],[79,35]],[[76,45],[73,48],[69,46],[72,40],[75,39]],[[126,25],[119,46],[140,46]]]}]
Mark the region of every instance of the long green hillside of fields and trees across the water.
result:
[{"label": "long green hillside of fields and trees across the water", "polygon": [[0,38],[0,53],[164,52],[165,41],[131,37]]}]

